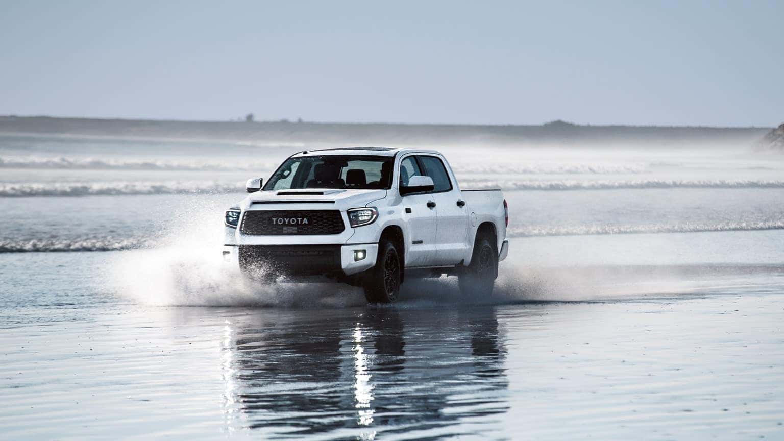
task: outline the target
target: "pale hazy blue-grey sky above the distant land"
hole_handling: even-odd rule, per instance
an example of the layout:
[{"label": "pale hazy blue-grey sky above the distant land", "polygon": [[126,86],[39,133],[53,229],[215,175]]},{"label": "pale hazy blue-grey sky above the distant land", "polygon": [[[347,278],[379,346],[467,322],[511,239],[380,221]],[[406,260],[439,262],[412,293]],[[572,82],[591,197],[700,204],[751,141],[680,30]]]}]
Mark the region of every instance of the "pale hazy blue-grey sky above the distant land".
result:
[{"label": "pale hazy blue-grey sky above the distant land", "polygon": [[774,126],[784,0],[0,0],[0,115]]}]

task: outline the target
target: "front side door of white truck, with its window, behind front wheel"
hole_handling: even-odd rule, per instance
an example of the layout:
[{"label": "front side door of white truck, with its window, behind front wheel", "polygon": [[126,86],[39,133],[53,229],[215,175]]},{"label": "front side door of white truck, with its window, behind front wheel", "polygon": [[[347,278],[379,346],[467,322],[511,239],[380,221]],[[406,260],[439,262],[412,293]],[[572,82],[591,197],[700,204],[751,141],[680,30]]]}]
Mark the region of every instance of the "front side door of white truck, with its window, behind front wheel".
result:
[{"label": "front side door of white truck, with its window, behind front wheel", "polygon": [[[415,156],[408,156],[400,164],[398,187],[408,184],[413,176],[424,176]],[[406,267],[421,267],[436,258],[436,219],[437,212],[432,195],[414,194],[403,196],[403,220],[408,224],[408,252],[405,254]]]}]

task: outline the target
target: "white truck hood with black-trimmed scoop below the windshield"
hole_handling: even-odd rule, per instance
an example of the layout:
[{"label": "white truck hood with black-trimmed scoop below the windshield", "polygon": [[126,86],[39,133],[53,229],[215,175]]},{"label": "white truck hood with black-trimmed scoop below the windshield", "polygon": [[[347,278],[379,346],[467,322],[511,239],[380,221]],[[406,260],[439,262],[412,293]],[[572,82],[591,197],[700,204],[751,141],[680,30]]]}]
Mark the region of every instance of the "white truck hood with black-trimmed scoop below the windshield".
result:
[{"label": "white truck hood with black-trimmed scoop below the windshield", "polygon": [[[303,190],[256,191],[242,201],[245,210],[324,210],[345,211],[381,199],[387,190],[313,188]],[[323,205],[322,205],[323,204]]]}]

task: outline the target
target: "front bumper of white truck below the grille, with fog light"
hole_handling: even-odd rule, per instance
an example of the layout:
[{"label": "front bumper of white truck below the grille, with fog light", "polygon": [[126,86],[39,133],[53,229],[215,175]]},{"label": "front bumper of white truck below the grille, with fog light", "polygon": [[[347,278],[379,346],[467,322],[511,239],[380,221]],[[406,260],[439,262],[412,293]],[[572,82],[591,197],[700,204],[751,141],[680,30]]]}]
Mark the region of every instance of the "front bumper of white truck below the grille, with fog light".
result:
[{"label": "front bumper of white truck below the grille, with fog light", "polygon": [[373,268],[378,253],[377,243],[223,246],[223,260],[243,271],[288,276],[353,275]]}]

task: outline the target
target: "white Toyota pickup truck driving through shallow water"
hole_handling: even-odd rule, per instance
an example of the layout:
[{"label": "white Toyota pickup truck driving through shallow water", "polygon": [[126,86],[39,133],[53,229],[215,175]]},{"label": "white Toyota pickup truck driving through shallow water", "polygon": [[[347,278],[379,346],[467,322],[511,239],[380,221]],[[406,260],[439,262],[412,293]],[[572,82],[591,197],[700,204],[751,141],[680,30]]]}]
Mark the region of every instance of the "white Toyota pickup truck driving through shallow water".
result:
[{"label": "white Toyota pickup truck driving through shallow water", "polygon": [[262,184],[224,219],[224,260],[252,279],[327,276],[387,303],[407,277],[446,274],[489,295],[509,250],[501,191],[461,190],[437,151],[302,151]]}]

